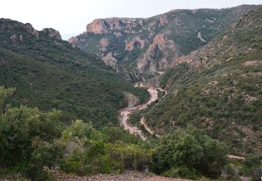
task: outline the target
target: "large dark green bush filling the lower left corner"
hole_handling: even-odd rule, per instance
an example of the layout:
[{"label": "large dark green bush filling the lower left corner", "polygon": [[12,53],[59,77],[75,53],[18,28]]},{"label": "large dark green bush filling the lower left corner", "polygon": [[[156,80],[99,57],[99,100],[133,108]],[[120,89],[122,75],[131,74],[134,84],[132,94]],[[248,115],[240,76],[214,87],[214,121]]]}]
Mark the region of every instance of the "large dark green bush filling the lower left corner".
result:
[{"label": "large dark green bush filling the lower left corner", "polygon": [[52,143],[61,135],[59,111],[43,113],[38,109],[8,109],[0,121],[1,166],[29,162],[36,140]]}]

